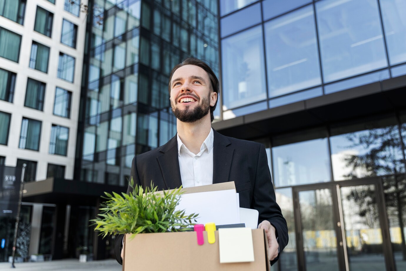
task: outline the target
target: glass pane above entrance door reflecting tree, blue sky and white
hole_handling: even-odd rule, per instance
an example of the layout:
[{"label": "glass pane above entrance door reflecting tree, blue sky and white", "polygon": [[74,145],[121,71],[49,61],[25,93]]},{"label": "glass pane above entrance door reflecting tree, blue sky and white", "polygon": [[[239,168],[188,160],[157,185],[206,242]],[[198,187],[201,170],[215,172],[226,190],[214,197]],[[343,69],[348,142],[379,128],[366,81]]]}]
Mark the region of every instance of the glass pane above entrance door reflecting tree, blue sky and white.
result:
[{"label": "glass pane above entrance door reflecting tree, blue sky and white", "polygon": [[334,180],[405,172],[395,119],[332,128],[331,134]]}]

